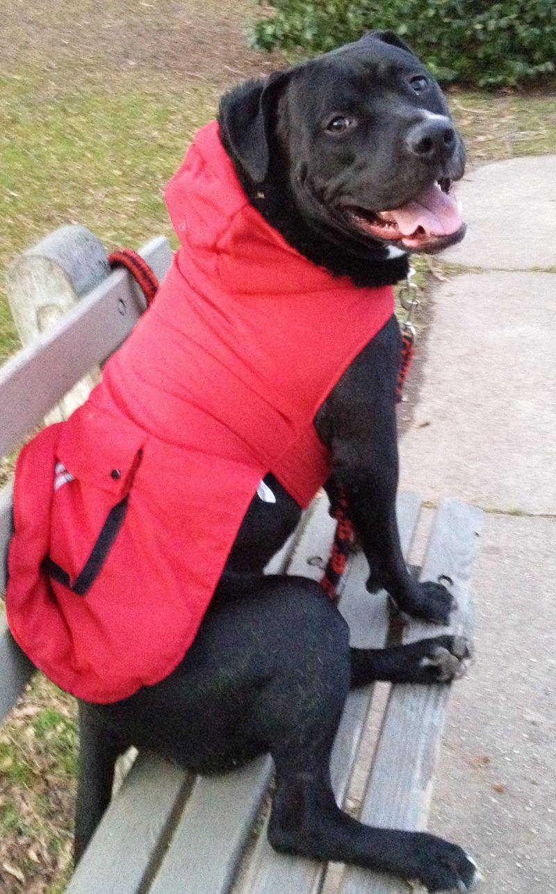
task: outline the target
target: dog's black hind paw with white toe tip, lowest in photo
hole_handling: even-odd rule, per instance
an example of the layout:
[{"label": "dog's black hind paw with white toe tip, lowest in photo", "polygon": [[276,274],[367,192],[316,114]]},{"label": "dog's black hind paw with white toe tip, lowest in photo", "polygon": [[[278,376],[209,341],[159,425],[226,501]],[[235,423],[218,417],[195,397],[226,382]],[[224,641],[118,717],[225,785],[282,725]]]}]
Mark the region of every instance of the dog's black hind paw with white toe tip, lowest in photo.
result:
[{"label": "dog's black hind paw with white toe tip, lowest in photo", "polygon": [[411,881],[420,882],[429,891],[449,894],[476,890],[481,875],[475,860],[465,850],[427,832],[417,832],[415,838],[415,875]]}]

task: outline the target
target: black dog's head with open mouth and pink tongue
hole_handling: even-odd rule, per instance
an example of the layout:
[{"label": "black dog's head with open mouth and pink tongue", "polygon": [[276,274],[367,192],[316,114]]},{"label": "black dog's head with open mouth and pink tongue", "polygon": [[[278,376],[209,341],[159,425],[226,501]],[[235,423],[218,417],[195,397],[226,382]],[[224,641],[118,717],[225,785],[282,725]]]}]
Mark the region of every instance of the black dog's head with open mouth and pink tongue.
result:
[{"label": "black dog's head with open mouth and pink tongue", "polygon": [[[438,84],[391,31],[241,85],[219,120],[263,214],[278,191],[282,210],[289,202],[310,232],[359,257],[438,251],[464,235],[452,187],[463,143]],[[265,215],[274,223],[275,207]]]}]

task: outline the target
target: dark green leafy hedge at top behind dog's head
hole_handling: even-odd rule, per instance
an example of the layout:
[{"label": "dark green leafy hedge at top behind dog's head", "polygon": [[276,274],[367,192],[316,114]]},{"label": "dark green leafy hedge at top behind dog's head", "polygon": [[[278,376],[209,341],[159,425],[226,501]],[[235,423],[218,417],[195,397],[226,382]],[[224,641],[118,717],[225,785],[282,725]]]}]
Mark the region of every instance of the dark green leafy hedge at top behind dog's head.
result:
[{"label": "dark green leafy hedge at top behind dog's head", "polygon": [[442,81],[516,85],[555,71],[554,0],[265,0],[251,43],[313,55],[390,28]]}]

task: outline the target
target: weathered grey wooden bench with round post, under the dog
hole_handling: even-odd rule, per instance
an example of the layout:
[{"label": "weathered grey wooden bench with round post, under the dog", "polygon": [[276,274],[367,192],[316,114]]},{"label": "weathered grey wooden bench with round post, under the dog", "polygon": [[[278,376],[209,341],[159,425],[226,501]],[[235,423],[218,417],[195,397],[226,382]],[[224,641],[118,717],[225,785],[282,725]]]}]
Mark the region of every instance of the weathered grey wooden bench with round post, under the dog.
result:
[{"label": "weathered grey wooden bench with round post, under the dog", "polygon": [[[150,241],[141,254],[158,276],[172,257],[164,239]],[[118,347],[144,309],[129,275],[109,274],[104,249],[80,227],[63,228],[19,258],[8,285],[12,303],[20,308],[14,316],[19,315],[22,338],[29,344],[0,370],[0,456],[13,451],[65,392]],[[40,328],[44,331],[37,334]],[[56,410],[57,417],[83,400],[90,384],[82,383]],[[0,493],[0,592],[11,505],[6,486]],[[409,556],[421,500],[414,493],[400,494],[398,513]],[[452,581],[459,604],[452,629],[458,632],[469,633],[468,579],[480,525],[478,510],[442,502],[423,551],[422,578]],[[333,529],[324,497],[317,499],[294,538],[274,557],[273,570],[319,578]],[[356,554],[342,582],[341,611],[350,622],[353,645],[380,647],[392,635],[390,612],[385,594],[366,593],[366,575],[366,561]],[[404,629],[403,641],[438,633],[437,627],[415,622]],[[0,721],[33,671],[0,608]],[[423,829],[450,687],[378,689],[383,696],[380,713],[374,687],[350,694],[334,747],[334,789],[339,802],[364,822]],[[114,794],[68,894],[407,891],[405,882],[391,877],[274,853],[264,834],[272,773],[266,755],[220,778],[195,778],[156,756],[139,755]]]}]

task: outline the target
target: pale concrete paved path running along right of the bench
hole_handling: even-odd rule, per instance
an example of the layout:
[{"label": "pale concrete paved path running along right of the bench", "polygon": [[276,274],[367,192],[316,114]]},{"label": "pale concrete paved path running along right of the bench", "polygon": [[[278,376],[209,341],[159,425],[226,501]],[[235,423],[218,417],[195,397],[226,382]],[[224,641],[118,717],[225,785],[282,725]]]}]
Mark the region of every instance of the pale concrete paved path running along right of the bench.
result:
[{"label": "pale concrete paved path running along right of the bench", "polygon": [[[451,699],[430,826],[485,894],[556,891],[556,156],[460,190],[467,266],[434,291],[401,484],[484,506],[476,665]],[[467,213],[466,213],[467,212]],[[480,269],[477,269],[480,268]],[[547,271],[547,272],[543,272]]]}]

